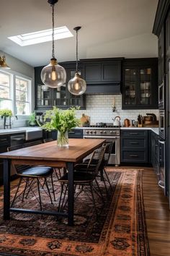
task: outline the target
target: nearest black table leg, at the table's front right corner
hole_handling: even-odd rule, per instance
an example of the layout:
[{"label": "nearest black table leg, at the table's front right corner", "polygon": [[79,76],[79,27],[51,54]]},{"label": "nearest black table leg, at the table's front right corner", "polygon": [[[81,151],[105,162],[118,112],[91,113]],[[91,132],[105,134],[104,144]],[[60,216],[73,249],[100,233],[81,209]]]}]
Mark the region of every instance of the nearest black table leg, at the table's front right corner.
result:
[{"label": "nearest black table leg, at the table's front right corner", "polygon": [[73,226],[73,163],[67,163],[68,168],[68,225]]}]

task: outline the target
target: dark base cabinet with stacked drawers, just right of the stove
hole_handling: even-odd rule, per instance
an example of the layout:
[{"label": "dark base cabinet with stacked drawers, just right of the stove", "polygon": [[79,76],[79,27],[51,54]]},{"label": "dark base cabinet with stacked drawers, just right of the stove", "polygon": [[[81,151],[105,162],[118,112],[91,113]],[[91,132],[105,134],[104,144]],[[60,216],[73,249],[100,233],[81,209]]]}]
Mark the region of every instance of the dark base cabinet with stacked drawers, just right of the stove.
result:
[{"label": "dark base cabinet with stacked drawers, just right of the stove", "polygon": [[148,163],[148,131],[121,131],[121,162]]}]

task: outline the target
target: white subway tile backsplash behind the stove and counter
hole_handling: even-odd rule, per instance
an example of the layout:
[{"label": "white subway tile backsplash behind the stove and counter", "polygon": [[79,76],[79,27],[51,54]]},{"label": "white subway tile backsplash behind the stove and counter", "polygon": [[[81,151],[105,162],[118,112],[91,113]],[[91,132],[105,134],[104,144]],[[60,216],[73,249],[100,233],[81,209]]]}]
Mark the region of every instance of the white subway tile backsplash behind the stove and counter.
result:
[{"label": "white subway tile backsplash behind the stove and counter", "polygon": [[[112,112],[112,104],[115,97],[116,111]],[[92,124],[97,122],[111,123],[115,116],[120,116],[121,124],[124,119],[137,120],[138,114],[146,116],[146,113],[154,113],[158,119],[158,109],[122,109],[122,95],[86,95],[86,110],[77,111],[77,117],[82,114],[90,116]]]}]

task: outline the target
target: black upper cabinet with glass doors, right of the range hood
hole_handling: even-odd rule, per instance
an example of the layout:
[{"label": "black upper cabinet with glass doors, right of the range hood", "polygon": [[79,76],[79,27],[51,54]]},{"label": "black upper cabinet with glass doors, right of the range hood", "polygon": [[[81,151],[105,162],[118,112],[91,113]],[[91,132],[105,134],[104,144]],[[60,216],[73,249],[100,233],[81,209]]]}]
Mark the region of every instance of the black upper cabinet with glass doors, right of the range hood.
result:
[{"label": "black upper cabinet with glass doors, right of the range hood", "polygon": [[158,108],[158,59],[123,61],[122,109]]}]

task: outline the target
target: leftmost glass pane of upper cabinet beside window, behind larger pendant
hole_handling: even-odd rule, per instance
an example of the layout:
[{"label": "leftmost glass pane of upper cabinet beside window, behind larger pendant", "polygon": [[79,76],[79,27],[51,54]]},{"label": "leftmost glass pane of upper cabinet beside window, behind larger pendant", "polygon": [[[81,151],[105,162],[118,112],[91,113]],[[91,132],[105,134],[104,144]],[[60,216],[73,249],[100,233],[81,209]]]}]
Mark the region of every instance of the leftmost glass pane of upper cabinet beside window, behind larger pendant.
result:
[{"label": "leftmost glass pane of upper cabinet beside window, behind larger pendant", "polygon": [[37,85],[37,106],[49,106],[50,101],[50,88],[46,85]]}]

